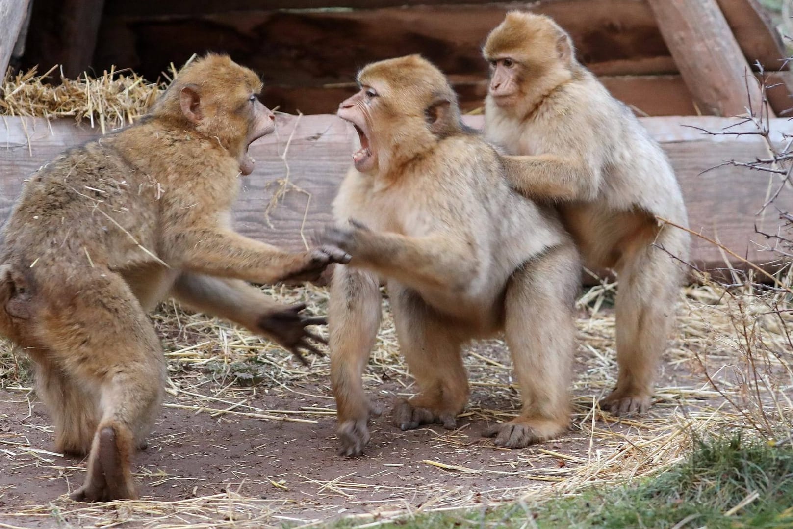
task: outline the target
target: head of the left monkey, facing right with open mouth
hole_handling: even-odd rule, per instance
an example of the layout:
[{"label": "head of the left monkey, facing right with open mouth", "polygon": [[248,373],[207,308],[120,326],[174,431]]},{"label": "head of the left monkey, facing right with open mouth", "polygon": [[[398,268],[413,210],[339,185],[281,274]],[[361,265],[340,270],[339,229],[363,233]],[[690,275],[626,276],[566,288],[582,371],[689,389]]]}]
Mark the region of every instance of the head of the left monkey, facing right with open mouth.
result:
[{"label": "head of the left monkey, facing right with open mouth", "polygon": [[179,71],[152,110],[155,117],[177,121],[217,138],[251,174],[248,146],[275,130],[275,116],[259,101],[262,81],[228,56],[209,53]]}]

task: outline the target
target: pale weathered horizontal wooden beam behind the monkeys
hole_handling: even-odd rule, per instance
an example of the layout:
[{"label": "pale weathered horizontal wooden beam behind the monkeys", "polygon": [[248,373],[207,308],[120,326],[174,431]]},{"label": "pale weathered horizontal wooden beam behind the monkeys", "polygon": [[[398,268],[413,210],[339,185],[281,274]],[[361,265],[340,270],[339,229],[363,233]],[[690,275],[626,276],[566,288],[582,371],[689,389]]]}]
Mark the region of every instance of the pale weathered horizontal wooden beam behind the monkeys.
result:
[{"label": "pale weathered horizontal wooden beam behind the monkeys", "polygon": [[[79,144],[97,133],[77,128],[71,121],[55,121],[52,127],[41,119],[11,118],[0,124],[0,220],[10,213],[13,201],[28,175],[52,159],[63,148]],[[480,127],[482,118],[466,116],[469,125]],[[718,131],[734,120],[718,117],[649,117],[642,123],[661,142],[675,167],[688,204],[691,228],[714,237],[755,263],[769,260],[762,236],[754,226],[774,233],[780,226],[776,209],[757,216],[768,190],[775,184],[768,175],[737,167],[707,169],[725,160],[752,160],[767,155],[757,136],[705,136],[695,125]],[[286,168],[280,155],[289,145],[290,187],[283,200],[266,215],[278,179]],[[793,123],[775,119],[776,140],[782,132],[793,134]],[[278,116],[278,132],[251,146],[257,160],[253,174],[243,177],[243,193],[236,203],[236,227],[247,236],[284,247],[298,249],[318,228],[331,220],[330,204],[341,178],[350,165],[350,153],[357,141],[355,132],[335,116]],[[783,190],[776,206],[793,211],[793,190]],[[724,266],[718,248],[693,238],[692,255],[704,268]],[[734,263],[737,264],[737,263]]]}]

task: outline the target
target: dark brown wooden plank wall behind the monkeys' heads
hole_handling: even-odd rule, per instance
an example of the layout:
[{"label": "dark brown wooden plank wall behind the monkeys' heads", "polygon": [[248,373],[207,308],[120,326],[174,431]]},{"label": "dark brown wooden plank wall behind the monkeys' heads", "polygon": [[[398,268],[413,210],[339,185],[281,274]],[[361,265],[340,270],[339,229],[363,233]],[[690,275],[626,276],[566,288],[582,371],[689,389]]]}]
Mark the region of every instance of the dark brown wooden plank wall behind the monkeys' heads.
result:
[{"label": "dark brown wooden plank wall behind the monkeys' heads", "polygon": [[[581,61],[638,114],[699,113],[646,0],[62,2],[36,0],[27,66],[49,67],[87,52],[93,56],[90,62],[69,61],[72,75],[89,68],[101,73],[116,65],[153,80],[171,62],[180,65],[196,52],[223,51],[262,75],[267,105],[313,114],[334,112],[354,89],[354,75],[362,65],[421,53],[450,75],[462,108],[469,111],[480,107],[485,95],[487,68],[480,54],[485,36],[507,10],[526,9],[548,14],[567,29]],[[94,17],[82,20],[98,24],[97,39],[86,39],[90,32],[85,26],[70,24],[73,17],[60,13],[67,7],[58,6],[75,2],[94,6]],[[783,67],[780,39],[752,2],[718,0],[718,6],[747,62],[759,61],[766,70],[777,71]],[[96,10],[103,4],[100,21]],[[58,38],[58,28],[67,34]],[[67,43],[78,37],[86,49],[67,54]],[[789,81],[787,72],[774,79]],[[778,115],[791,106],[791,86],[781,84],[770,93]]]}]

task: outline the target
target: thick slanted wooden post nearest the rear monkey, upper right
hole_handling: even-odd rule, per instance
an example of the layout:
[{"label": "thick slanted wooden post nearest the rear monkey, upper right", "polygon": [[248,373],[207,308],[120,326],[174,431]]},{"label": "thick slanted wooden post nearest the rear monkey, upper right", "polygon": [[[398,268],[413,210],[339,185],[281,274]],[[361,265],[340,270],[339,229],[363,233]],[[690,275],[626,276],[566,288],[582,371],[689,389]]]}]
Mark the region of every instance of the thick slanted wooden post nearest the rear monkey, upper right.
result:
[{"label": "thick slanted wooden post nearest the rear monkey, upper right", "polygon": [[648,3],[700,112],[739,116],[751,102],[760,113],[762,94],[716,0]]}]

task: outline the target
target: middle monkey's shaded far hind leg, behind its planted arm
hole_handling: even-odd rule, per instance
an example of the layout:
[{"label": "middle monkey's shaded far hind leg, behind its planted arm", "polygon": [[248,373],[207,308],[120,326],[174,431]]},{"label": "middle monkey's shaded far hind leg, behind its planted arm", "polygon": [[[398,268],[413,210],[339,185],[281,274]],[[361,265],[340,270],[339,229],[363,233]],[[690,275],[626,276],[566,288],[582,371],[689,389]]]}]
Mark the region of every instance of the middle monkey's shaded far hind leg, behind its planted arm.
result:
[{"label": "middle monkey's shaded far hind leg, behind its planted arm", "polygon": [[389,292],[400,349],[421,392],[394,407],[394,423],[401,430],[433,423],[453,430],[469,394],[460,329],[443,322],[412,290],[389,284]]}]

